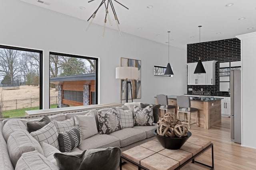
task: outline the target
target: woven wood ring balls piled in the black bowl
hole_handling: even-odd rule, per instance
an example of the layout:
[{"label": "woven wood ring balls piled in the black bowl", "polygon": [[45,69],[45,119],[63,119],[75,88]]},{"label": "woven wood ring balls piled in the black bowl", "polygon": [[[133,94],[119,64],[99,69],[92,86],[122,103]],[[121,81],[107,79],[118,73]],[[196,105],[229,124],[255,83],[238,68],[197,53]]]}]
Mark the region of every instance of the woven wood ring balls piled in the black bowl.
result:
[{"label": "woven wood ring balls piled in the black bowl", "polygon": [[166,113],[160,121],[157,122],[157,134],[165,137],[185,137],[188,134],[188,128],[182,125],[181,121],[173,113]]}]

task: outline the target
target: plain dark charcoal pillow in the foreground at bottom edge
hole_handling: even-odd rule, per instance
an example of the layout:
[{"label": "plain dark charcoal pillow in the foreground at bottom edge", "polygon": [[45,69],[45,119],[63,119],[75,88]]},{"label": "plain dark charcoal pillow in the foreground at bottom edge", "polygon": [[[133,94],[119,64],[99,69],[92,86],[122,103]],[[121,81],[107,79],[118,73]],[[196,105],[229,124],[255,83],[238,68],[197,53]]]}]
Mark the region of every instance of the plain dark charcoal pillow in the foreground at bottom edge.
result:
[{"label": "plain dark charcoal pillow in the foreground at bottom edge", "polygon": [[118,147],[89,149],[81,153],[54,153],[60,170],[118,170],[120,156]]}]

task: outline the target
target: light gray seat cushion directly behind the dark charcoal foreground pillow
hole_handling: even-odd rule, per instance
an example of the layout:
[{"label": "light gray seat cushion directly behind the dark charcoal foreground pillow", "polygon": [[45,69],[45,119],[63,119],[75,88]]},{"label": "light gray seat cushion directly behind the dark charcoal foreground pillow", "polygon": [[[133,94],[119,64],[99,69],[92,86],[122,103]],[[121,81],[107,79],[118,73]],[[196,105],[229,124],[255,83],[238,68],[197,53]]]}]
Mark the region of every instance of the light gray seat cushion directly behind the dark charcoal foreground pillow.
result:
[{"label": "light gray seat cushion directly behind the dark charcoal foreground pillow", "polygon": [[119,139],[111,135],[97,134],[82,140],[81,145],[78,146],[80,150],[107,147],[120,147]]}]

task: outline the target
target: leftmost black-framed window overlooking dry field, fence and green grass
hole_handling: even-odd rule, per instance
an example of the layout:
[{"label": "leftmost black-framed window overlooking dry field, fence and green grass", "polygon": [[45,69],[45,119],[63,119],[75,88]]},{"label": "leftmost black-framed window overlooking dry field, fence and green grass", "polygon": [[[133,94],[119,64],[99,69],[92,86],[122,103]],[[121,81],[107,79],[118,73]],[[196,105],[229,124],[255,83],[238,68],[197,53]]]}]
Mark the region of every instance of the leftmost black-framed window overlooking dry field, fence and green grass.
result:
[{"label": "leftmost black-framed window overlooking dry field, fence and green grass", "polygon": [[0,45],[0,118],[42,109],[42,51]]}]

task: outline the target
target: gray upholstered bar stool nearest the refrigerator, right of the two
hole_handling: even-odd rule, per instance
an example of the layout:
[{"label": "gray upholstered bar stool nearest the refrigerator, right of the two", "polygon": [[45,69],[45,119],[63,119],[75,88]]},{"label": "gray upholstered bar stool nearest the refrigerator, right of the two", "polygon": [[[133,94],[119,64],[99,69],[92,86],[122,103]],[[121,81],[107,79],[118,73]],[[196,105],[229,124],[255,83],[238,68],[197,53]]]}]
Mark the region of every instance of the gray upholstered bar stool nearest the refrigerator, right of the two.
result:
[{"label": "gray upholstered bar stool nearest the refrigerator, right of the two", "polygon": [[[180,119],[180,112],[184,114],[184,120],[182,123],[188,124],[188,129],[190,129],[190,125],[197,124],[197,117],[198,117],[198,109],[190,107],[190,98],[189,96],[177,96],[177,105],[178,105],[178,110],[177,110],[177,116],[178,119]],[[185,119],[185,113],[188,114],[188,119]],[[191,120],[191,114],[195,113],[195,120]],[[194,123],[190,123],[194,122]]]}]

